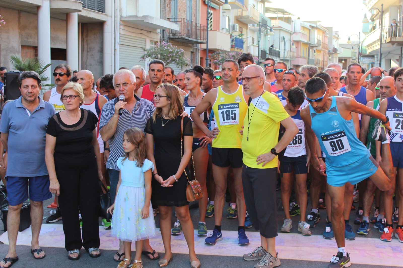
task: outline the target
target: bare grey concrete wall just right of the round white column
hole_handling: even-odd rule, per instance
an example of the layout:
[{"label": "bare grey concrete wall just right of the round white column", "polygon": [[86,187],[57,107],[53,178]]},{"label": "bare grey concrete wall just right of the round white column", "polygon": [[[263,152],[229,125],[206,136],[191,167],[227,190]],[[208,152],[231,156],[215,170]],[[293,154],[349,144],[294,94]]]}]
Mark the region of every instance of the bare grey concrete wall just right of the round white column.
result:
[{"label": "bare grey concrete wall just right of the round white column", "polygon": [[89,70],[97,80],[103,75],[103,25],[81,24],[81,69]]}]

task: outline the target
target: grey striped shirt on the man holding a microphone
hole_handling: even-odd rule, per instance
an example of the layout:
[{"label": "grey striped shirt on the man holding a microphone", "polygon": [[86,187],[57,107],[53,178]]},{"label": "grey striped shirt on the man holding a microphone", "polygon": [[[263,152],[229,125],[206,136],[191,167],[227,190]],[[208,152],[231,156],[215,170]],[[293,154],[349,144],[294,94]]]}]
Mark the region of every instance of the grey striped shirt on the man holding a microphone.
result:
[{"label": "grey striped shirt on the man holding a microphone", "polygon": [[[151,101],[140,99],[136,95],[136,105],[131,113],[127,109],[122,110],[122,115],[119,116],[118,125],[116,126],[115,134],[109,139],[110,154],[106,161],[107,169],[120,170],[116,166],[119,157],[125,153],[123,150],[123,134],[129,128],[145,129],[145,125],[149,118],[152,117],[155,106]],[[118,97],[105,103],[102,108],[99,128],[103,128],[115,113],[115,103],[119,101]]]}]

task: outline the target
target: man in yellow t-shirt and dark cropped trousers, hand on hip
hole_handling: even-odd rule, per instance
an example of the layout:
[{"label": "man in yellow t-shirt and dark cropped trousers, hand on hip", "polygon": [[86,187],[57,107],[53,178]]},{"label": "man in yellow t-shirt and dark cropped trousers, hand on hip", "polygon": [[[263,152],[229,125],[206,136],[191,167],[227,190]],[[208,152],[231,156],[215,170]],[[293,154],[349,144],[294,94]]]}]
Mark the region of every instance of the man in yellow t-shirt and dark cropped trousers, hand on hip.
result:
[{"label": "man in yellow t-shirt and dark cropped trousers, hand on hip", "polygon": [[[280,100],[264,91],[264,80],[264,70],[258,65],[249,65],[242,73],[243,90],[251,97],[243,120],[242,186],[249,216],[260,232],[262,243],[243,259],[260,260],[256,265],[259,267],[270,262],[277,267],[280,266],[276,254],[277,155],[293,140],[298,128]],[[286,131],[278,141],[280,124]]]}]

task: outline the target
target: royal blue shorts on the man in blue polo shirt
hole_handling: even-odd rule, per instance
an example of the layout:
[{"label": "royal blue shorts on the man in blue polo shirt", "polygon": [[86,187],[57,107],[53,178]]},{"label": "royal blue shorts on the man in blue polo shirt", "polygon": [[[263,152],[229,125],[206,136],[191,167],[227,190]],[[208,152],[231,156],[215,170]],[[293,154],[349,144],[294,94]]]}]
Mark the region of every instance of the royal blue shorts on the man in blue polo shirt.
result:
[{"label": "royal blue shorts on the man in blue polo shirt", "polygon": [[[41,202],[52,198],[49,191],[49,175],[36,177],[6,177],[7,201],[10,206],[17,206],[28,199]],[[28,187],[29,185],[29,187]]]}]

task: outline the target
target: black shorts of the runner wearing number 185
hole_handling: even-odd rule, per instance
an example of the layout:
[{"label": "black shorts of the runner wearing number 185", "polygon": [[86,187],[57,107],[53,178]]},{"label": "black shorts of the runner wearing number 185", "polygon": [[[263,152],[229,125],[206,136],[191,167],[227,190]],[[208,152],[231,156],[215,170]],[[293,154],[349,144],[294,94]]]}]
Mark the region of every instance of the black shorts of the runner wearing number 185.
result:
[{"label": "black shorts of the runner wearing number 185", "polygon": [[242,167],[242,149],[241,148],[212,148],[211,161],[218,167],[229,167],[237,169]]}]

